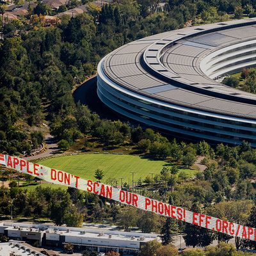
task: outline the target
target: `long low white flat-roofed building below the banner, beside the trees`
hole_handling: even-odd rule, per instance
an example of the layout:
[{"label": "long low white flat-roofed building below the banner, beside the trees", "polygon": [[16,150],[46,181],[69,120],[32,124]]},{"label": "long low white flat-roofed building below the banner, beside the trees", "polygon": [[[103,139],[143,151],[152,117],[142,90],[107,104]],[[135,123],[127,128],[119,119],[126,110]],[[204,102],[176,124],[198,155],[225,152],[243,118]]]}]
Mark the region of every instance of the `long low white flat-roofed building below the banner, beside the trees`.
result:
[{"label": "long low white flat-roofed building below the banner, beside the trees", "polygon": [[26,241],[53,247],[63,247],[71,243],[80,250],[96,250],[109,252],[115,250],[120,253],[134,253],[141,245],[159,239],[156,234],[138,232],[121,232],[102,230],[102,228],[73,228],[44,225],[30,225],[26,223],[0,223],[0,234],[10,239]]}]

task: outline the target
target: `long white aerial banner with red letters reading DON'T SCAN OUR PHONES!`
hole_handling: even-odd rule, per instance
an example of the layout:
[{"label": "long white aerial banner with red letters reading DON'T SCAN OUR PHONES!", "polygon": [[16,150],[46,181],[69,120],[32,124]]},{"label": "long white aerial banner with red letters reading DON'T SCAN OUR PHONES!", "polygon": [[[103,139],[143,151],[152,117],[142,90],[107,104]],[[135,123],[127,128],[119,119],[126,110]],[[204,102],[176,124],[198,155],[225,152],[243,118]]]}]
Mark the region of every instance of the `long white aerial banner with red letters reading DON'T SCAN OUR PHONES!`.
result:
[{"label": "long white aerial banner with red letters reading DON'T SCAN OUR PHONES!", "polygon": [[228,234],[230,236],[256,241],[255,227],[245,227],[230,221],[220,220],[205,214],[188,211],[182,207],[159,202],[136,193],[114,188],[107,184],[93,182],[92,180],[85,180],[77,175],[49,168],[38,163],[31,163],[24,159],[20,159],[19,157],[0,154],[0,164],[3,164],[7,168],[17,170],[18,172],[38,177],[39,179],[51,182],[52,184],[81,189],[115,200],[120,204],[131,205],[143,211],[154,212],[161,216],[175,218],[180,221],[191,223],[216,232],[221,232],[223,234]]}]

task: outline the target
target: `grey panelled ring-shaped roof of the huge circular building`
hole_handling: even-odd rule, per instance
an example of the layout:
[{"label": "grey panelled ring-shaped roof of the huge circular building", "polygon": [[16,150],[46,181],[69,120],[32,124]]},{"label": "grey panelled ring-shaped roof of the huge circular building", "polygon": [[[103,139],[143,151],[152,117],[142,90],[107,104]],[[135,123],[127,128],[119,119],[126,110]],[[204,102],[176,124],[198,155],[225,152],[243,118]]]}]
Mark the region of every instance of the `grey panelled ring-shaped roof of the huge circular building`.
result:
[{"label": "grey panelled ring-shaped roof of the huge circular building", "polygon": [[104,58],[116,84],[171,104],[256,119],[256,95],[206,76],[200,60],[223,47],[256,39],[256,19],[168,31],[123,45]]}]

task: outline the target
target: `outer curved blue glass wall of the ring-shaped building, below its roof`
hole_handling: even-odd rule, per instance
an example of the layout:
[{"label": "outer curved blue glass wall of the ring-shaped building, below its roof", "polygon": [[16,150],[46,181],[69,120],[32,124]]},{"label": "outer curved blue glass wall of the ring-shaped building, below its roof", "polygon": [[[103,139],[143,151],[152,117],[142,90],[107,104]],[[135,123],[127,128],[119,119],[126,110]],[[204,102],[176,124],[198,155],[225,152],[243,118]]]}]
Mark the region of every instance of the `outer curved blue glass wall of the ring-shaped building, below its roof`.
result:
[{"label": "outer curved blue glass wall of the ring-shaped building, below its roof", "polygon": [[227,119],[225,116],[207,115],[204,111],[192,113],[186,109],[166,107],[147,101],[145,97],[139,99],[136,94],[132,96],[118,91],[100,76],[97,93],[109,108],[141,124],[218,143],[240,145],[243,141],[250,141],[256,147],[256,122],[253,124],[247,120],[243,122],[241,118]]}]

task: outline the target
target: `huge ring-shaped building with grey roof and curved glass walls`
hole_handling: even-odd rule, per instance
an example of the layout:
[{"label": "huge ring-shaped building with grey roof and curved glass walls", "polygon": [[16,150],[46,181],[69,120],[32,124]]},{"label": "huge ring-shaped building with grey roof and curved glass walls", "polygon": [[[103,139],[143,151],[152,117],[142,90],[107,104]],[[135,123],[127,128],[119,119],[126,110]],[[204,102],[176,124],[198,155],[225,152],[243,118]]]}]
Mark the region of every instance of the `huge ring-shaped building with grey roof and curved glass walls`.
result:
[{"label": "huge ring-shaped building with grey roof and curved glass walls", "polygon": [[256,66],[256,19],[189,27],[123,45],[98,65],[109,108],[174,136],[256,147],[256,95],[218,82]]}]

